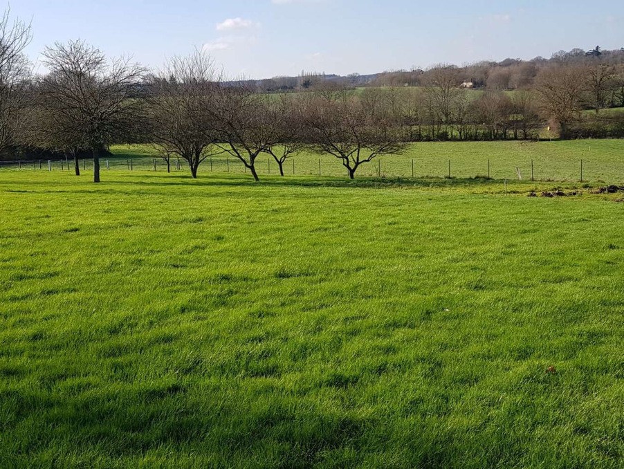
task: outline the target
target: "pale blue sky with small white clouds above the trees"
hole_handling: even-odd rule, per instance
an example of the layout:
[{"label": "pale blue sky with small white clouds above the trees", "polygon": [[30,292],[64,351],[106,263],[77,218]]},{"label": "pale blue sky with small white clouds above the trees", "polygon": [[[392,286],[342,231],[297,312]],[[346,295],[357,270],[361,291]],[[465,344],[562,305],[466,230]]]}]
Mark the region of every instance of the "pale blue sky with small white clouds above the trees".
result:
[{"label": "pale blue sky with small white clouds above the trees", "polygon": [[624,1],[12,0],[28,55],[85,39],[158,67],[209,50],[231,76],[347,74],[624,47]]}]

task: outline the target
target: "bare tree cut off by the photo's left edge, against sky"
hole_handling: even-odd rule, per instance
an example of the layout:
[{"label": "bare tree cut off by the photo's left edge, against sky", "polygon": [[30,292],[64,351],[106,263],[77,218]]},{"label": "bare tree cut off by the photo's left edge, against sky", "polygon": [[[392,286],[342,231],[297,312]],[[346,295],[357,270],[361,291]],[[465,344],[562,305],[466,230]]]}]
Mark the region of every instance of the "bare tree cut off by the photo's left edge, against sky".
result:
[{"label": "bare tree cut off by the photo's left edge, against sky", "polygon": [[0,17],[0,153],[12,144],[30,77],[23,54],[31,39],[30,24],[10,19],[10,10]]}]

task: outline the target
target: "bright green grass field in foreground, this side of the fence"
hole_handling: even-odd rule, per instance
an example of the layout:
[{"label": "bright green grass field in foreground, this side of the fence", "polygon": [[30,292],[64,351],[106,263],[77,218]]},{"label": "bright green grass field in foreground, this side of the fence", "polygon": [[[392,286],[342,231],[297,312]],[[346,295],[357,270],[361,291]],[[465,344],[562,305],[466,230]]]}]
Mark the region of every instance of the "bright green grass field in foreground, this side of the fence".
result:
[{"label": "bright green grass field in foreground, this side of the fence", "polygon": [[621,468],[624,194],[102,180],[0,172],[0,467]]}]

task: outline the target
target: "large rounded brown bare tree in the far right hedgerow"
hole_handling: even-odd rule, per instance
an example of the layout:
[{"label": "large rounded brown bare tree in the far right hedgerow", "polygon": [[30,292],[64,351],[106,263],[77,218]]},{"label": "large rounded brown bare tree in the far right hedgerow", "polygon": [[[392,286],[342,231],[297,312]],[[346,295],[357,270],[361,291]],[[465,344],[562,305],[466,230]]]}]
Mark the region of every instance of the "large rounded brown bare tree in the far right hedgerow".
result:
[{"label": "large rounded brown bare tree in the far right hedgerow", "polygon": [[580,113],[585,95],[585,74],[582,67],[549,66],[540,71],[535,82],[542,112],[547,118],[556,120],[561,138],[567,138],[567,127]]}]

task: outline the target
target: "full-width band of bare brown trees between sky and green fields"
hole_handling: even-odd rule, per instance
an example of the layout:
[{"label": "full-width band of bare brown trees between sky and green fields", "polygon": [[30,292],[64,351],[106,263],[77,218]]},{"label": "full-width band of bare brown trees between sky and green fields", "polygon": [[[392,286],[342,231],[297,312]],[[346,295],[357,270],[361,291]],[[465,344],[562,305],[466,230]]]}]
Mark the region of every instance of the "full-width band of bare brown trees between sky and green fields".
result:
[{"label": "full-width band of bare brown trees between sky and green fields", "polygon": [[[354,178],[360,165],[414,141],[535,140],[546,126],[560,138],[624,137],[624,113],[602,111],[624,105],[621,51],[497,64],[480,93],[470,89],[477,68],[447,65],[414,72],[418,87],[356,89],[355,76],[304,74],[299,93],[268,93],[226,78],[201,50],[154,73],[82,41],[56,43],[43,53],[48,72],[33,75],[23,54],[30,37],[8,12],[0,19],[0,157],[65,155],[80,174],[78,159],[93,156],[95,182],[100,155],[116,143],[149,143],[167,164],[183,158],[193,177],[205,159],[228,154],[258,179],[260,155],[283,173],[306,150],[338,158]],[[510,93],[516,75],[524,85]]]}]

